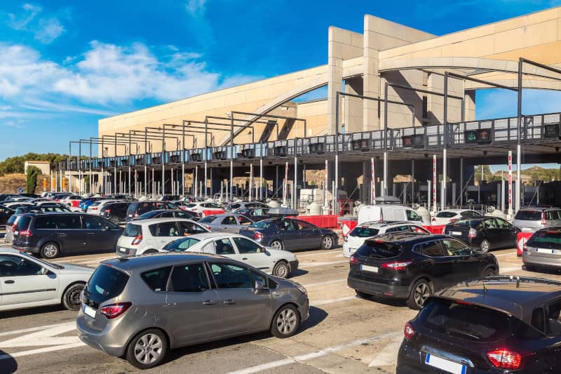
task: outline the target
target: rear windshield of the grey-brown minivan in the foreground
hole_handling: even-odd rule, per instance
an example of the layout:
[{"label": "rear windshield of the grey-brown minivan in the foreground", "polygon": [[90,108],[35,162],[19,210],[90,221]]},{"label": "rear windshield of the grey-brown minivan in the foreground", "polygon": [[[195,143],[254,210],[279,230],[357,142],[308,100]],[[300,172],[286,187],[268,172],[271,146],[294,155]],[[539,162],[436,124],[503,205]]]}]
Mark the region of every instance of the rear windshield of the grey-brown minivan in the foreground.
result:
[{"label": "rear windshield of the grey-brown minivan in the foreground", "polygon": [[128,274],[100,265],[88,281],[87,298],[101,303],[121,295],[128,282]]}]

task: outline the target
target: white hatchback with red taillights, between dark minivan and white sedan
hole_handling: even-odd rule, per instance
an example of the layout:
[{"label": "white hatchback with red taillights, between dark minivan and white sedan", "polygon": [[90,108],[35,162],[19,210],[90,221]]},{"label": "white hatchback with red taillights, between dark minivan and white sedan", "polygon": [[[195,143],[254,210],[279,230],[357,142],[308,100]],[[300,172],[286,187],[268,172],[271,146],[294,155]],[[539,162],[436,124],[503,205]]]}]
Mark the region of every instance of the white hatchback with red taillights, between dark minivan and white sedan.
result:
[{"label": "white hatchback with red taillights, between dark minivan and white sedan", "polygon": [[162,252],[162,248],[181,236],[202,234],[209,229],[184,218],[152,218],[128,222],[117,241],[119,257]]}]

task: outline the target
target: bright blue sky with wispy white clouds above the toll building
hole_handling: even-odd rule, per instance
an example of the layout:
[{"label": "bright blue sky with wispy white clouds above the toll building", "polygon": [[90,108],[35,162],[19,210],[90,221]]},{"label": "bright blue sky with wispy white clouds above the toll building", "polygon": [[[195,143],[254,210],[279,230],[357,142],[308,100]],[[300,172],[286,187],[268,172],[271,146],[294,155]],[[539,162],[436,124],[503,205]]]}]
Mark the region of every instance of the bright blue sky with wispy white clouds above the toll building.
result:
[{"label": "bright blue sky with wispy white clouds above the toll building", "polygon": [[[441,35],[559,4],[4,0],[0,160],[68,152],[105,116],[325,64],[327,27],[361,32],[365,13]],[[525,113],[560,110],[560,95],[528,95]],[[478,94],[478,117],[512,114],[514,94]]]}]

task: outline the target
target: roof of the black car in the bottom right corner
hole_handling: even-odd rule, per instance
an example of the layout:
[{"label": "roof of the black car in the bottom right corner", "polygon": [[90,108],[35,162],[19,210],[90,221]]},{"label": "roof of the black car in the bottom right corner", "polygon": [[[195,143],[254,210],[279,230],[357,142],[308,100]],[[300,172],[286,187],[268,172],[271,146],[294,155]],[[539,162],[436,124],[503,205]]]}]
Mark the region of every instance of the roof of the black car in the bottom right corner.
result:
[{"label": "roof of the black car in the bottom right corner", "polygon": [[458,283],[434,296],[489,307],[529,321],[535,307],[561,296],[561,281],[531,276],[492,276]]}]

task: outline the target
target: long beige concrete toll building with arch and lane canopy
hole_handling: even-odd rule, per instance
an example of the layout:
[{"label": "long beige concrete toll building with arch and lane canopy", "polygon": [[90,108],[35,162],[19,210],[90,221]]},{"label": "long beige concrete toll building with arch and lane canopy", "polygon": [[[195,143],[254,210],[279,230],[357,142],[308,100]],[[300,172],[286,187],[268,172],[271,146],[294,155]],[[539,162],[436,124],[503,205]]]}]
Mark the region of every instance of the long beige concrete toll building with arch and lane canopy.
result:
[{"label": "long beige concrete toll building with arch and lane canopy", "polygon": [[[59,171],[82,190],[91,174],[90,191],[241,196],[231,180],[252,165],[282,196],[285,175],[303,188],[327,161],[327,189],[368,202],[373,160],[377,194],[430,205],[435,155],[444,207],[466,203],[474,166],[506,164],[509,152],[513,168],[560,162],[561,114],[521,104],[522,88],[561,89],[561,7],[443,36],[373,15],[363,22],[362,34],[329,27],[326,65],[101,119],[96,137],[71,142]],[[295,100],[322,87],[327,98]],[[518,116],[475,121],[475,91],[486,88],[518,92]],[[490,190],[497,206],[505,188]],[[560,205],[561,185],[547,188]],[[523,192],[517,173],[513,210]]]}]

